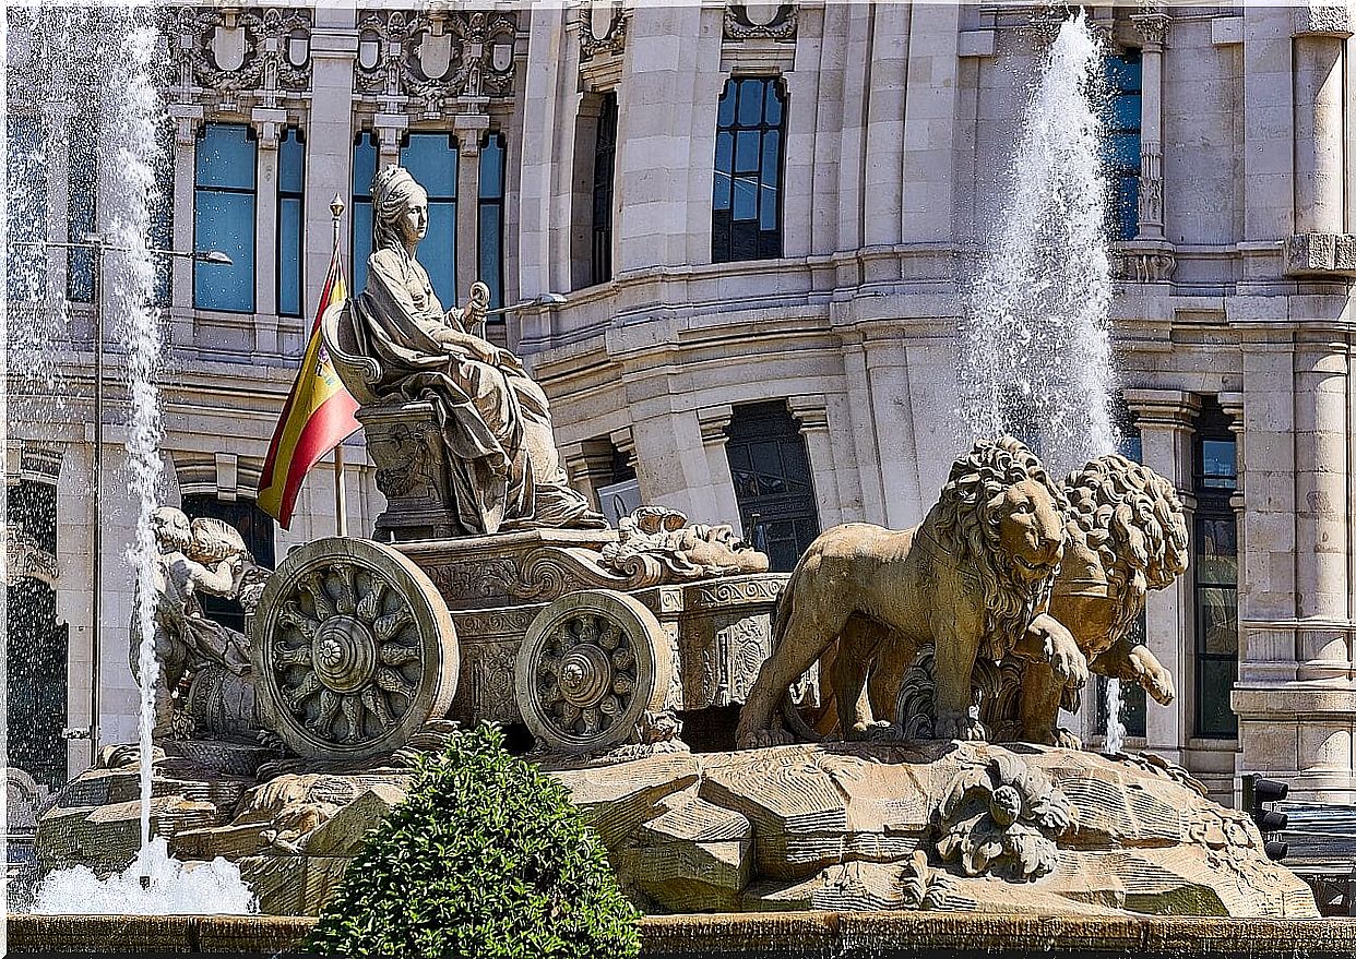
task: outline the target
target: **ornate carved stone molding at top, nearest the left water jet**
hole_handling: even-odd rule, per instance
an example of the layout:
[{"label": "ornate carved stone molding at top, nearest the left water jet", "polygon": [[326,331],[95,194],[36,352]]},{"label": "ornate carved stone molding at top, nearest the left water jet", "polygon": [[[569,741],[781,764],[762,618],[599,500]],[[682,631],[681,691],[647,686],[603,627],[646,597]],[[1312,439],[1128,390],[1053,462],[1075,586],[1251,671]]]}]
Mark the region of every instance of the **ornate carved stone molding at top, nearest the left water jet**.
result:
[{"label": "ornate carved stone molding at top, nearest the left water jet", "polygon": [[263,107],[311,89],[311,12],[241,7],[179,11],[172,42],[179,95],[250,93]]}]

